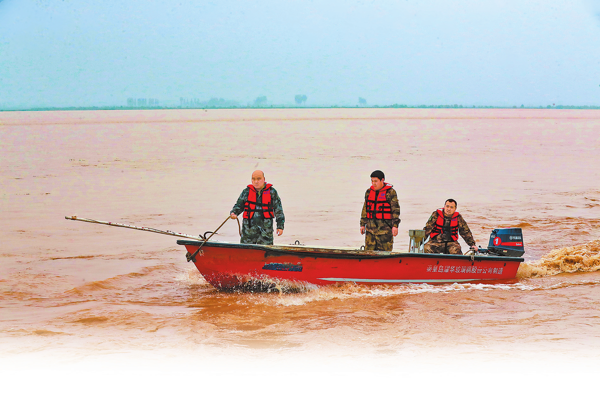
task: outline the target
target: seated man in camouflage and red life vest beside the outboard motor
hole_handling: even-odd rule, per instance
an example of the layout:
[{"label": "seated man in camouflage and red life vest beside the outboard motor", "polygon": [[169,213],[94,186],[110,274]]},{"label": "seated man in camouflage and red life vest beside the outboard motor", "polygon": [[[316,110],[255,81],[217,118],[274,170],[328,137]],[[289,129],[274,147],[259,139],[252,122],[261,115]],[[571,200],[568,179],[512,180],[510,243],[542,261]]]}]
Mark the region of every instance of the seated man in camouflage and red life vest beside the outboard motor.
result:
[{"label": "seated man in camouflage and red life vest beside the outboard motor", "polygon": [[457,205],[456,200],[448,199],[443,208],[435,210],[429,217],[423,228],[424,239],[429,236],[429,242],[423,246],[426,253],[463,254],[458,244],[458,234],[470,248],[477,249],[469,225],[456,210]]}]

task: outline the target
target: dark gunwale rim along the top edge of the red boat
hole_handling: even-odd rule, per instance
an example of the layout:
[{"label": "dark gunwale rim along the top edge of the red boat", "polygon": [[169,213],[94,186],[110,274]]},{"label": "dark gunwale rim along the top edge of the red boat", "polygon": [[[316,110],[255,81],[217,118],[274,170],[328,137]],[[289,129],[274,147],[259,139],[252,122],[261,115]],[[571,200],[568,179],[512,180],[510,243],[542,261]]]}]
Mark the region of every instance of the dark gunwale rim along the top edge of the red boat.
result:
[{"label": "dark gunwale rim along the top edge of the red boat", "polygon": [[[203,242],[197,240],[177,240],[178,245],[199,246]],[[522,257],[507,257],[503,255],[461,255],[461,254],[437,254],[437,253],[413,253],[413,252],[389,252],[389,251],[370,251],[352,248],[325,248],[325,247],[305,247],[304,245],[256,245],[250,243],[234,243],[234,242],[205,242],[203,247],[220,247],[220,248],[238,248],[238,249],[255,249],[265,252],[281,254],[281,255],[298,255],[304,257],[315,258],[342,258],[350,260],[365,260],[365,259],[386,259],[386,258],[449,258],[458,260],[471,261],[525,261]]]}]

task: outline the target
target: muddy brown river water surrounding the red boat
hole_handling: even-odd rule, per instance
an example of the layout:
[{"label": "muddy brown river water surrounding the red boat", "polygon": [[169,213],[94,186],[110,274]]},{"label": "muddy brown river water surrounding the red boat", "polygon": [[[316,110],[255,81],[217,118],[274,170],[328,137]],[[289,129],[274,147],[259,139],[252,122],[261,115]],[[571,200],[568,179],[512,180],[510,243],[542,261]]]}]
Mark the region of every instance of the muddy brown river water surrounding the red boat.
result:
[{"label": "muddy brown river water surrounding the red boat", "polygon": [[[320,382],[367,396],[395,393],[370,386],[380,380],[416,394],[506,380],[524,393],[527,377],[587,377],[600,356],[599,133],[598,110],[0,113],[4,376],[25,384],[38,369],[60,388],[100,373],[133,394],[270,381],[292,397],[299,380],[305,393]],[[498,284],[220,293],[175,237],[64,219],[204,233],[255,169],[283,202],[275,243],[361,246],[380,169],[401,206],[395,249],[452,197],[479,245],[521,227],[526,262]],[[235,221],[218,240],[238,240]]]}]

